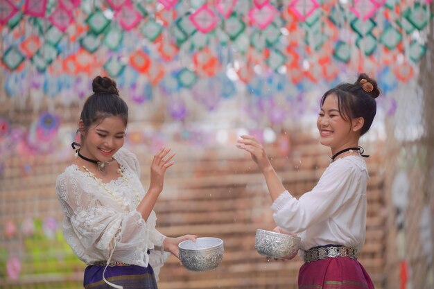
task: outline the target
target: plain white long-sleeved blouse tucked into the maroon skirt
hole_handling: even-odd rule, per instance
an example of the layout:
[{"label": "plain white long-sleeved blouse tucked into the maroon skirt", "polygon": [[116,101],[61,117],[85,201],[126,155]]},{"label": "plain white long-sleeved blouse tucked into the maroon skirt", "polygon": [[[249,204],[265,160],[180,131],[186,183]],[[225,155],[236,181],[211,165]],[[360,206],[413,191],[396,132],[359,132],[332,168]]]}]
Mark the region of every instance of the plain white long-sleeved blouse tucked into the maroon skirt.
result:
[{"label": "plain white long-sleeved blouse tucked into the maroon skirt", "polygon": [[347,156],[333,161],[318,184],[298,200],[284,191],[273,202],[279,227],[297,233],[302,249],[328,244],[361,249],[366,233],[365,161]]}]

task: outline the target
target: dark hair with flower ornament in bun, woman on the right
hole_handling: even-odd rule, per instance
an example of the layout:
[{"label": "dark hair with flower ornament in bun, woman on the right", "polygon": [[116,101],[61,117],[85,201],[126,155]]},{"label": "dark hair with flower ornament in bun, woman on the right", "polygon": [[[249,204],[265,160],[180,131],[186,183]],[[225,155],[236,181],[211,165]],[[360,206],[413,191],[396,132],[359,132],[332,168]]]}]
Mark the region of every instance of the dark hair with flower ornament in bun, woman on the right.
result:
[{"label": "dark hair with flower ornament in bun, woman on the right", "polygon": [[363,117],[365,122],[361,129],[361,136],[371,127],[376,114],[376,101],[380,95],[379,87],[373,78],[361,73],[354,84],[341,83],[329,89],[321,98],[321,106],[330,94],[338,98],[340,116],[351,123],[351,119]]}]

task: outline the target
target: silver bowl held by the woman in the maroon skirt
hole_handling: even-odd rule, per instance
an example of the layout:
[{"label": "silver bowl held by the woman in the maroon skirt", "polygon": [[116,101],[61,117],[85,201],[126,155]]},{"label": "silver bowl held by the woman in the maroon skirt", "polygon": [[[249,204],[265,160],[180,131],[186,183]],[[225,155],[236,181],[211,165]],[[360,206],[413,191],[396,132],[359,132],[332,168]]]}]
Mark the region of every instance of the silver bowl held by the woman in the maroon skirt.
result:
[{"label": "silver bowl held by the woman in the maroon skirt", "polygon": [[295,254],[300,243],[301,238],[297,236],[257,229],[254,247],[261,255],[283,258]]}]

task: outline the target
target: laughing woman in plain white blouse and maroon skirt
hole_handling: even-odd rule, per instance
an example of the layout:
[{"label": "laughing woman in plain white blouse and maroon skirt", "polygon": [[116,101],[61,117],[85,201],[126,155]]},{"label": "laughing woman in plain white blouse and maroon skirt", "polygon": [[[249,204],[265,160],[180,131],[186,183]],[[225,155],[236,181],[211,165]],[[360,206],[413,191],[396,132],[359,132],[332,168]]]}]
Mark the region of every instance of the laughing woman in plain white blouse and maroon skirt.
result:
[{"label": "laughing woman in plain white blouse and maroon skirt", "polygon": [[[331,149],[331,164],[318,184],[298,200],[281,183],[257,139],[245,135],[237,147],[249,152],[263,173],[272,199],[275,231],[302,238],[298,287],[372,289],[358,252],[365,242],[368,173],[360,137],[376,114],[376,81],[361,73],[321,98],[317,127],[320,143]],[[285,259],[292,259],[287,256]]]}]

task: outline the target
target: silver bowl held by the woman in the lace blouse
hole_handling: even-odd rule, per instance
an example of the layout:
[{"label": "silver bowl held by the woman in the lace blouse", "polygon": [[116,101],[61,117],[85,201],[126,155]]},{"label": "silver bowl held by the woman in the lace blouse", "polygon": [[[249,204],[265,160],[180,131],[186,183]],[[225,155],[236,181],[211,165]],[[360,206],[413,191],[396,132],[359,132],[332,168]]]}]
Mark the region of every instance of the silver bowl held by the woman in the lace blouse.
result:
[{"label": "silver bowl held by the woman in the lace blouse", "polygon": [[178,245],[180,260],[191,271],[213,270],[223,259],[223,240],[213,237],[197,238],[196,242],[184,240]]}]

